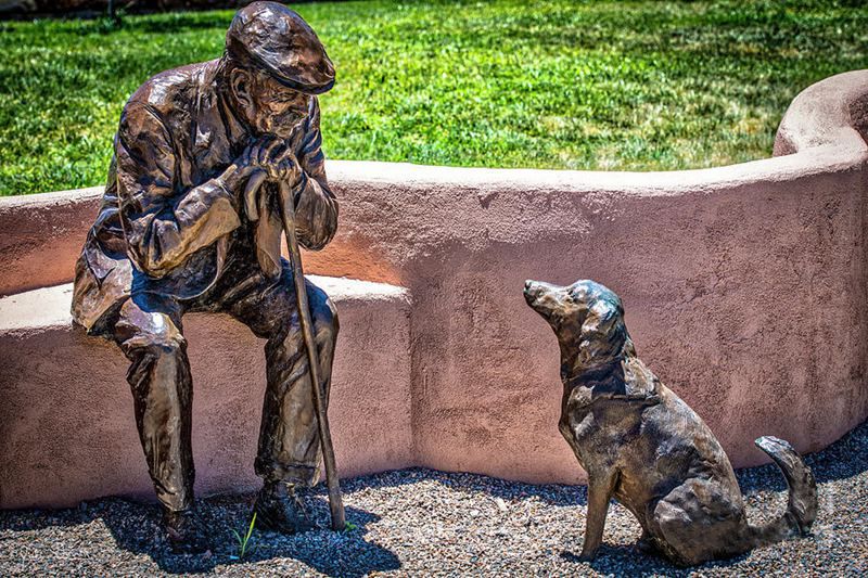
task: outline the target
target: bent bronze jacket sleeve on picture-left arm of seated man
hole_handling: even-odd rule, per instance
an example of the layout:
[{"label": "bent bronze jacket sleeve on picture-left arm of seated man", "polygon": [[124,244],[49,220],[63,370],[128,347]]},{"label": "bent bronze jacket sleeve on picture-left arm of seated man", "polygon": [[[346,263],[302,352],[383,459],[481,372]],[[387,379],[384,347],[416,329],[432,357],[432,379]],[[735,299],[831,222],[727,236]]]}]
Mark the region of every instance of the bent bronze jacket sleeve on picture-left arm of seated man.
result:
[{"label": "bent bronze jacket sleeve on picture-left arm of seated man", "polygon": [[128,105],[115,141],[117,191],[127,253],[159,278],[240,226],[232,194],[217,179],[179,190],[177,151],[159,114]]}]

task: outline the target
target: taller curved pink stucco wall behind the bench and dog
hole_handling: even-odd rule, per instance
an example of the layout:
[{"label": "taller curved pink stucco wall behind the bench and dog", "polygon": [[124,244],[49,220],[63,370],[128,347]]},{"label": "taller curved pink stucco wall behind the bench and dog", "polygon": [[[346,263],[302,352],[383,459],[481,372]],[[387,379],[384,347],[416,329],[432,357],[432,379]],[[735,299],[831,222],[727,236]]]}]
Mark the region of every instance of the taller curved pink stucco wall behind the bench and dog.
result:
[{"label": "taller curved pink stucco wall behind the bench and dog", "polygon": [[[866,87],[866,70],[810,87],[776,143],[794,154],[713,169],[330,162],[341,230],[306,266],[409,290],[420,465],[580,479],[556,426],[557,344],[524,305],[526,278],[617,292],[640,357],[736,465],[764,460],[760,435],[813,451],[868,415]],[[0,203],[0,294],[72,278],[98,195]]]}]

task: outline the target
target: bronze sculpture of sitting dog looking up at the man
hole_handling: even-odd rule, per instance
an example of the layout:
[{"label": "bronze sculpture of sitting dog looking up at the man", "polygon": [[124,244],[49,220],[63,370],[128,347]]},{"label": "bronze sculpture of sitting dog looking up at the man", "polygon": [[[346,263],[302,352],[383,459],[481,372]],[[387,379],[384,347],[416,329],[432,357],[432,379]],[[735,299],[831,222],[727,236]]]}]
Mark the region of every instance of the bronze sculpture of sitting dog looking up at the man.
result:
[{"label": "bronze sculpture of sitting dog looking up at the man", "polygon": [[729,459],[699,415],[636,357],[617,295],[593,281],[566,287],[527,281],[524,296],[561,348],[559,427],[588,473],[582,560],[593,558],[600,545],[611,498],[638,518],[642,550],[679,565],[738,555],[810,529],[814,476],[787,441],[774,437],[756,445],[787,478],[788,509],[768,524],[748,523]]}]

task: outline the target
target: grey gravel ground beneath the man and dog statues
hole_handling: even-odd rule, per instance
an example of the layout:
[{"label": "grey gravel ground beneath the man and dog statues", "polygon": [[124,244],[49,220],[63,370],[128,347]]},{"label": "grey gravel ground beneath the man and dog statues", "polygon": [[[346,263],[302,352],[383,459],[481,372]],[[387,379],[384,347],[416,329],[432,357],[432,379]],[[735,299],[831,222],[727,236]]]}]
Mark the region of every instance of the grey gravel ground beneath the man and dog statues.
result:
[{"label": "grey gravel ground beneath the man and dog statues", "polygon": [[[201,501],[216,547],[173,555],[152,504],[118,498],[60,511],[0,512],[0,575],[639,575],[719,576],[868,574],[868,422],[807,459],[819,483],[810,537],[761,548],[692,571],[634,549],[639,526],[620,505],[607,519],[603,548],[578,562],[586,491],[531,486],[471,474],[405,470],[345,480],[344,532],[283,537],[255,531],[255,551],[238,554],[253,496]],[[775,466],[738,472],[753,522],[778,515],[786,485]],[[310,498],[328,522],[322,488]]]}]

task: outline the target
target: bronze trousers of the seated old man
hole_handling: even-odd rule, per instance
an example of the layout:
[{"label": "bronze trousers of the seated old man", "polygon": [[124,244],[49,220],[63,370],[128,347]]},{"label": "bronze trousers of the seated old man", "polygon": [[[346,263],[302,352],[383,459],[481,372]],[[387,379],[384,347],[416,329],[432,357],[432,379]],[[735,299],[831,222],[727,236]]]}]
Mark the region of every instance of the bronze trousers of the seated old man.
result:
[{"label": "bronze trousers of the seated old man", "polygon": [[[267,388],[254,463],[265,481],[312,486],[321,457],[310,372],[289,264],[277,281],[258,270],[226,275],[204,297],[181,301],[133,292],[114,325],[115,341],[131,361],[136,425],[157,499],[171,511],[193,505],[191,444],[193,388],[181,317],[222,311],[266,338]],[[230,279],[231,278],[231,279]],[[337,316],[326,293],[305,280],[324,400],[331,382]]]}]

